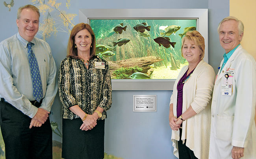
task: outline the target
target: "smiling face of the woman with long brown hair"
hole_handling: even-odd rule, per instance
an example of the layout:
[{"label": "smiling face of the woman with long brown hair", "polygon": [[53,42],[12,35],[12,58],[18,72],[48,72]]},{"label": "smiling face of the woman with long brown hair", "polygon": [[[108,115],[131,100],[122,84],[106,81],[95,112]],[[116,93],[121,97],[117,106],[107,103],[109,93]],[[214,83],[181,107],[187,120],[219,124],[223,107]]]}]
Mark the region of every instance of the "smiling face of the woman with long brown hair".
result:
[{"label": "smiling face of the woman with long brown hair", "polygon": [[92,37],[87,29],[83,29],[75,35],[75,44],[78,54],[90,54],[91,43]]}]

